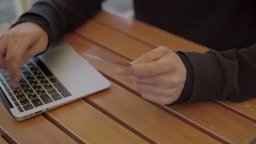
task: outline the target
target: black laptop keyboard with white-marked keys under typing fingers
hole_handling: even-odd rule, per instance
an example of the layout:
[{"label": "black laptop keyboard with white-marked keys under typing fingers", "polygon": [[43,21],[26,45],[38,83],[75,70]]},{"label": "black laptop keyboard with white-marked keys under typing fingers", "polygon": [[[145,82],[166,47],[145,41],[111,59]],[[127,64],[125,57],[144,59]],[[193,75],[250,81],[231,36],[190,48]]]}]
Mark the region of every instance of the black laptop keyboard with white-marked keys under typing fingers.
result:
[{"label": "black laptop keyboard with white-marked keys under typing fingers", "polygon": [[20,112],[52,103],[71,96],[65,86],[38,59],[32,58],[21,67],[21,80],[18,88],[11,86],[9,73],[0,69],[0,81]]}]

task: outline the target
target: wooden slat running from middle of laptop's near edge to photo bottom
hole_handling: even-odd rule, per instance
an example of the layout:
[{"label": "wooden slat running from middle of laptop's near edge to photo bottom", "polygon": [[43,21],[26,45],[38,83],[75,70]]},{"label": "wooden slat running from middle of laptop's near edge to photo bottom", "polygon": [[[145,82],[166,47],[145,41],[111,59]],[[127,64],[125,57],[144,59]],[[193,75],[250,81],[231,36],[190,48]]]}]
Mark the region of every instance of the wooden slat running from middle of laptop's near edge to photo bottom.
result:
[{"label": "wooden slat running from middle of laptop's near edge to photo bottom", "polygon": [[46,115],[79,143],[148,143],[83,100],[51,110]]}]

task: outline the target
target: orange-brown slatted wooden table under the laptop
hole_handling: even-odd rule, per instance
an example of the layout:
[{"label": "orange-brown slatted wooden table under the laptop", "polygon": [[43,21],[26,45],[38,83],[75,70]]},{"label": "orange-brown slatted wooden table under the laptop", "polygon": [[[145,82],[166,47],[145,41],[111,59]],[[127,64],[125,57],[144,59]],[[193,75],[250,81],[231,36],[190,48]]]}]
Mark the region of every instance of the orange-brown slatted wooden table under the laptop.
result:
[{"label": "orange-brown slatted wooden table under the laptop", "polygon": [[[0,28],[6,30],[6,25]],[[77,52],[130,62],[160,45],[205,52],[199,44],[106,11],[63,37]],[[86,57],[112,86],[22,122],[0,109],[0,143],[248,143],[256,135],[256,99],[164,106],[141,98],[118,65]]]}]

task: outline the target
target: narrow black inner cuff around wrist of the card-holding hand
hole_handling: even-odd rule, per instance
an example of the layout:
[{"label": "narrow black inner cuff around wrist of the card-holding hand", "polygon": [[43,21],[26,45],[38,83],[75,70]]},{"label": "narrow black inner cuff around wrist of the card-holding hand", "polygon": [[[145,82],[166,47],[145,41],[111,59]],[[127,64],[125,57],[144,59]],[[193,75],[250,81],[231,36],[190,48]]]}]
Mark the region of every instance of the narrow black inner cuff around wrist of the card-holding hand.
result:
[{"label": "narrow black inner cuff around wrist of the card-holding hand", "polygon": [[184,85],[181,95],[179,96],[179,98],[176,101],[174,101],[173,103],[171,103],[168,106],[185,103],[190,98],[190,95],[191,95],[191,92],[193,89],[194,73],[193,73],[192,65],[189,62],[187,56],[184,55],[184,53],[182,53],[180,51],[178,51],[176,53],[182,59],[182,62],[184,63],[185,68],[187,69],[187,76],[186,76],[185,85]]}]

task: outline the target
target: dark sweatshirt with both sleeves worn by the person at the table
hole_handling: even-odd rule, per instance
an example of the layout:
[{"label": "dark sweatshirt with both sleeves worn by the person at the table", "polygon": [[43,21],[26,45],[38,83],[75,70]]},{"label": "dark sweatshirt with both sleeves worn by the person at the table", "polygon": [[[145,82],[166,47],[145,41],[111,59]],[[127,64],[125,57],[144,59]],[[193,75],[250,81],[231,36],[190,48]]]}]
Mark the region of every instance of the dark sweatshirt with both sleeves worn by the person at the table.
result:
[{"label": "dark sweatshirt with both sleeves worn by the person at the table", "polygon": [[[14,25],[42,26],[50,43],[88,21],[102,0],[40,0]],[[190,101],[256,97],[255,0],[134,0],[137,20],[210,47],[206,53],[178,51],[187,68],[181,97]]]}]

